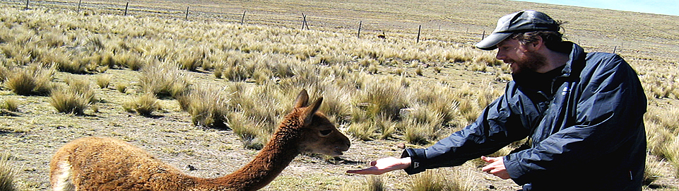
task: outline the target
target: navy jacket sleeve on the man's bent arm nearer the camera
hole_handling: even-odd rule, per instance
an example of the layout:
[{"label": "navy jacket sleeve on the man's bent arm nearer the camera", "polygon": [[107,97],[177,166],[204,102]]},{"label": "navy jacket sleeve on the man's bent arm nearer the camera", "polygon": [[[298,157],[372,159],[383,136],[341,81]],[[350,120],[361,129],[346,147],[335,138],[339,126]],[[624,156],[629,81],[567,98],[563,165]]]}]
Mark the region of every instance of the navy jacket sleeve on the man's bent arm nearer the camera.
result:
[{"label": "navy jacket sleeve on the man's bent arm nearer the camera", "polygon": [[579,97],[574,98],[573,106],[562,106],[572,110],[571,116],[565,116],[572,122],[556,127],[558,132],[533,143],[532,149],[504,156],[504,166],[514,182],[524,185],[545,171],[610,154],[643,127],[646,97],[636,72],[617,55],[601,57],[598,61],[588,58],[593,63],[580,74],[583,85],[572,90]]}]

